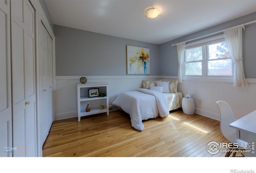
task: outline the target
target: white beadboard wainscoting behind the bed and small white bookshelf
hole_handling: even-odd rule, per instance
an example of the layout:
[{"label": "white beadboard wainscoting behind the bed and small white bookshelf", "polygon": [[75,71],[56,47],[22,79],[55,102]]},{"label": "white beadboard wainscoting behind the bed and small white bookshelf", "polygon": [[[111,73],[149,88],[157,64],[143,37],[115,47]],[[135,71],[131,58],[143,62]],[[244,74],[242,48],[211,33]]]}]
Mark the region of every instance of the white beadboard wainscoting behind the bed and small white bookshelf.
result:
[{"label": "white beadboard wainscoting behind the bed and small white bookshelf", "polygon": [[[55,76],[55,120],[77,117],[77,89],[82,76]],[[111,105],[123,91],[142,87],[142,80],[158,80],[161,76],[85,76],[87,83],[108,83],[108,97]],[[175,78],[175,77],[174,77]],[[110,106],[111,107],[111,106]]]}]

